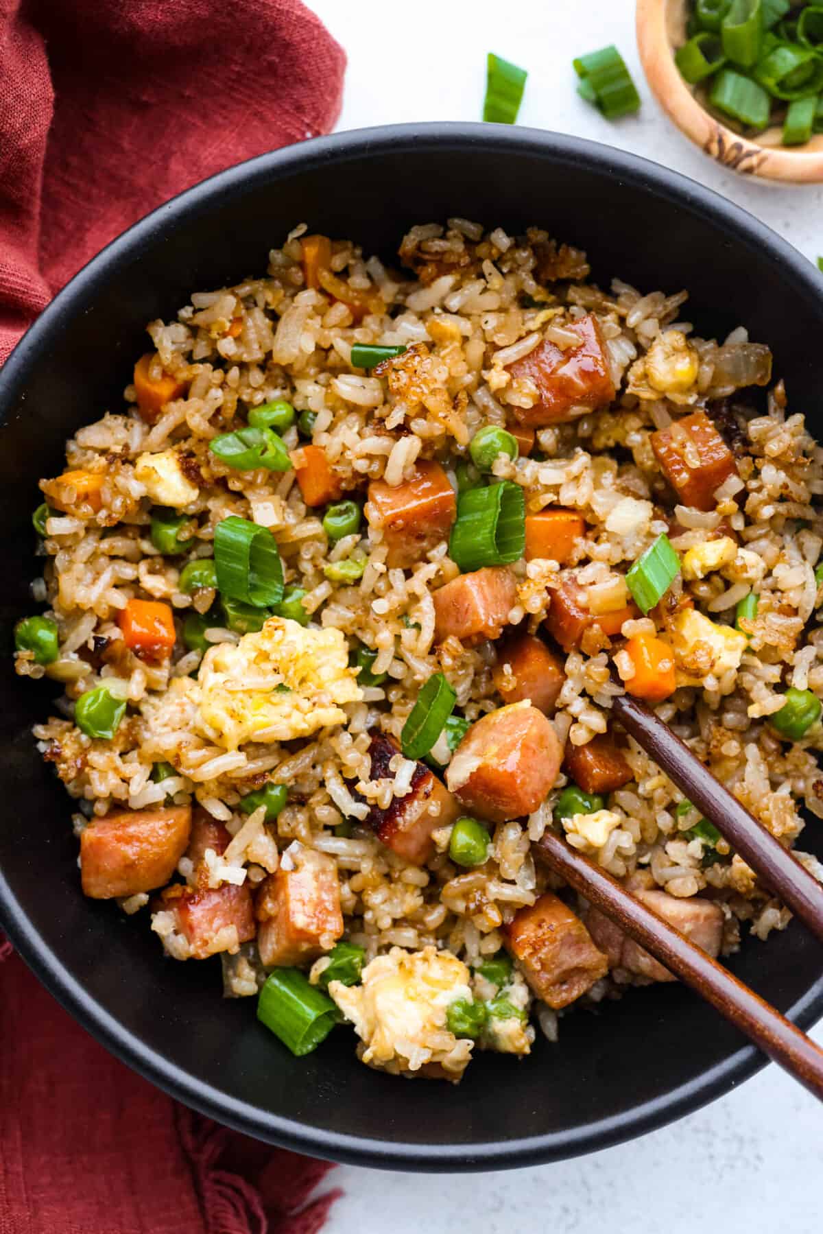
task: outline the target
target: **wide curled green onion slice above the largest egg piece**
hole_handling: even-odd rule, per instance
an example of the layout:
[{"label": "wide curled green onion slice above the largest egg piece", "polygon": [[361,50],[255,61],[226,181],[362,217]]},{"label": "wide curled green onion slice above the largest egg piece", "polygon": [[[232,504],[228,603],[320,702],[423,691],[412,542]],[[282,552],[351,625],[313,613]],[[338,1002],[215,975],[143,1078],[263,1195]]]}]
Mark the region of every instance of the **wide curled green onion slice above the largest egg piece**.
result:
[{"label": "wide curled green onion slice above the largest egg piece", "polygon": [[274,536],[247,518],[230,515],[215,528],[217,590],[254,608],[283,600],[283,561]]}]

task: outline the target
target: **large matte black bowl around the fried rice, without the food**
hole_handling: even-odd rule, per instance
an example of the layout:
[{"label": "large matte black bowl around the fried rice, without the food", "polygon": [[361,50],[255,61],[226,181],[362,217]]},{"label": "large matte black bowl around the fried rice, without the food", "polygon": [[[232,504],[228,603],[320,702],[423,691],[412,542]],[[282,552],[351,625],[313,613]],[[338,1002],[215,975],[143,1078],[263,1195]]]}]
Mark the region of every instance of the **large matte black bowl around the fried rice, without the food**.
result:
[{"label": "large matte black bowl around the fried rice, without the food", "polygon": [[[524,128],[415,125],[306,142],[225,172],[132,227],[65,288],[0,373],[5,629],[32,608],[37,478],[60,469],[63,441],[78,426],[122,405],[144,322],[174,313],[192,290],[264,269],[268,249],[299,221],[389,255],[407,226],[454,215],[547,227],[586,248],[603,283],[618,275],[649,291],[689,288],[686,315],[701,333],[744,323],[771,344],[792,408],[819,431],[823,279],[700,185],[631,154]],[[4,665],[6,929],[90,1032],[197,1109],[320,1156],[490,1169],[638,1135],[763,1065],[680,986],[632,992],[602,1016],[571,1016],[559,1045],[540,1040],[523,1062],[482,1056],[457,1090],[368,1070],[345,1030],[292,1059],[258,1025],[253,1003],[221,1000],[217,960],[163,959],[144,914],[123,919],[84,900],[69,801],[30,735],[54,689],[14,677],[9,656]],[[766,946],[751,940],[729,966],[803,1027],[823,1012],[819,945],[798,924]]]}]

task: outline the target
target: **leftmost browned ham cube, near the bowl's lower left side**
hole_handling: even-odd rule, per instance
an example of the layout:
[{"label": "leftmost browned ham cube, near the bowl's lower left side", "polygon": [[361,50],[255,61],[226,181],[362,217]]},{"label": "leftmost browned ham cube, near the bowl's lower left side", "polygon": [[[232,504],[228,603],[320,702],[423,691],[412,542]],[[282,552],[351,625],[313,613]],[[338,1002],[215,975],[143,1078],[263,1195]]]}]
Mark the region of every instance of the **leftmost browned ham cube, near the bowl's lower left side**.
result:
[{"label": "leftmost browned ham cube, near the bowl's lower left side", "polygon": [[186,850],[191,807],[122,810],[80,834],[83,891],[93,900],[134,896],[168,882]]}]

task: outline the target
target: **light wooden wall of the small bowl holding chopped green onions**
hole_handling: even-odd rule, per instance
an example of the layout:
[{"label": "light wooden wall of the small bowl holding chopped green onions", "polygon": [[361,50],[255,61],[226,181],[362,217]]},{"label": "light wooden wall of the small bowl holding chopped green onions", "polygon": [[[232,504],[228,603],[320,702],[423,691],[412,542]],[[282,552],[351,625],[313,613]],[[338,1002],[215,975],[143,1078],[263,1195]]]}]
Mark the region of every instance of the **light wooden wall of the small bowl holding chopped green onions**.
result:
[{"label": "light wooden wall of the small bowl holding chopped green onions", "polygon": [[701,101],[700,86],[680,75],[672,52],[686,42],[687,0],[637,0],[640,62],[664,111],[696,146],[722,167],[784,184],[823,184],[823,133],[804,146],[781,146],[781,130],[743,137]]}]

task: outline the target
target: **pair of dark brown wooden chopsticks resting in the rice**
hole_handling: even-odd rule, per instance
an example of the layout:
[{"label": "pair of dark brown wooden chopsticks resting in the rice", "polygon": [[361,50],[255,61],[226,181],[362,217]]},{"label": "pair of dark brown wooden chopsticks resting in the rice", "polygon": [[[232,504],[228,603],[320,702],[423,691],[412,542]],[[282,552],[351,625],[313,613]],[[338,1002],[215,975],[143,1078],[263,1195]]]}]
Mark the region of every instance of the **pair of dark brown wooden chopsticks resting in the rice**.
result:
[{"label": "pair of dark brown wooden chopsticks resting in the rice", "polygon": [[[668,724],[628,695],[612,714],[764,882],[823,939],[823,886],[719,784]],[[547,832],[537,854],[596,908],[692,986],[764,1054],[823,1099],[823,1050],[617,880]]]}]

